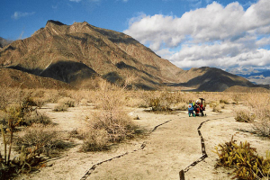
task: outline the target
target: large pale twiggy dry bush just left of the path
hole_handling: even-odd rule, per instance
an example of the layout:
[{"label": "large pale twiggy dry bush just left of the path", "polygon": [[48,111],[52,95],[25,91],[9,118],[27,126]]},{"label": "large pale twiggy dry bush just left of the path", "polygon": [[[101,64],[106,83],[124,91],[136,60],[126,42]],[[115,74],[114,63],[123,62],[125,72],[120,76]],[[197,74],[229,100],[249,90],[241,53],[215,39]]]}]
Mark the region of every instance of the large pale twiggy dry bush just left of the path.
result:
[{"label": "large pale twiggy dry bush just left of the path", "polygon": [[84,130],[84,151],[106,149],[108,143],[119,142],[134,136],[136,126],[123,112],[125,90],[114,85],[103,84],[96,91],[95,104],[100,109],[89,118]]}]

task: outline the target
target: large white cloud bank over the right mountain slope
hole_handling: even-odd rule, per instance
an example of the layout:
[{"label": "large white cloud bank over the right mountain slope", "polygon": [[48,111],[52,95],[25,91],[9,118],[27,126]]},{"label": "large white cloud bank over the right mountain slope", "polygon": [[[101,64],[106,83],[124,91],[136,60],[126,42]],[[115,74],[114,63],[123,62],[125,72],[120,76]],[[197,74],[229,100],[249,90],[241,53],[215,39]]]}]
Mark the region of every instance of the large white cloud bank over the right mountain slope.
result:
[{"label": "large white cloud bank over the right mountain slope", "polygon": [[270,67],[270,1],[259,0],[245,11],[241,4],[173,15],[139,14],[129,34],[178,67]]}]

